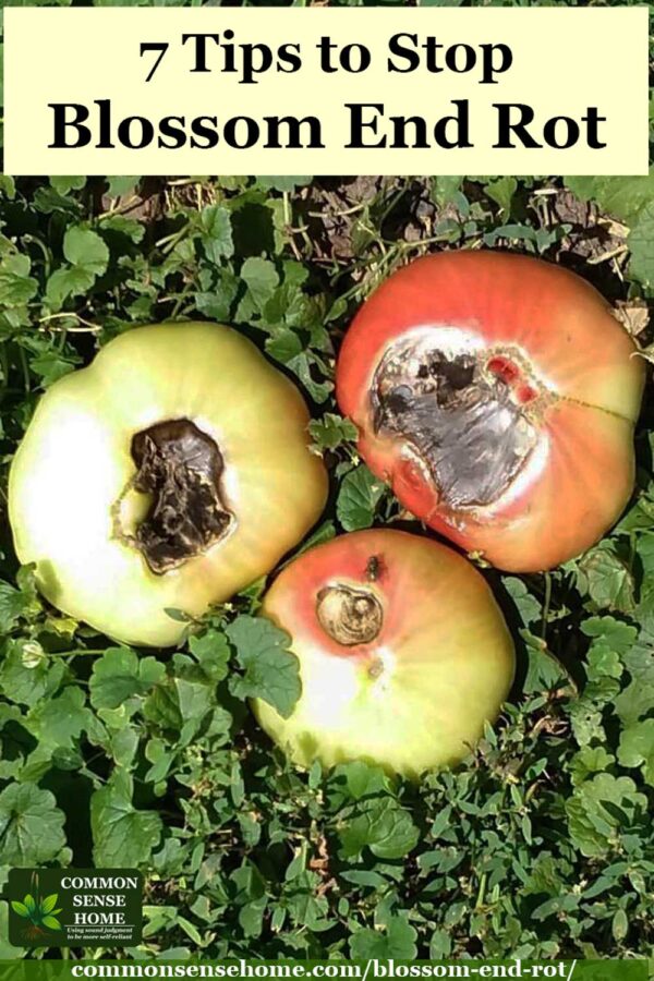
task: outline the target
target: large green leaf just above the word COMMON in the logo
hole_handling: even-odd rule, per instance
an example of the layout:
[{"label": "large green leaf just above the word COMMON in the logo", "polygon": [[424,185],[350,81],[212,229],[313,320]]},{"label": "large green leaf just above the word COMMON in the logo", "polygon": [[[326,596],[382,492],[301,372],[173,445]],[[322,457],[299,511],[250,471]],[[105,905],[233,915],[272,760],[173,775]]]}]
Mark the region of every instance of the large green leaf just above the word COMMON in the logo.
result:
[{"label": "large green leaf just above the word COMMON in the logo", "polygon": [[136,810],[133,780],[123,770],[90,798],[94,859],[107,868],[141,867],[159,843],[162,824],[156,811]]}]

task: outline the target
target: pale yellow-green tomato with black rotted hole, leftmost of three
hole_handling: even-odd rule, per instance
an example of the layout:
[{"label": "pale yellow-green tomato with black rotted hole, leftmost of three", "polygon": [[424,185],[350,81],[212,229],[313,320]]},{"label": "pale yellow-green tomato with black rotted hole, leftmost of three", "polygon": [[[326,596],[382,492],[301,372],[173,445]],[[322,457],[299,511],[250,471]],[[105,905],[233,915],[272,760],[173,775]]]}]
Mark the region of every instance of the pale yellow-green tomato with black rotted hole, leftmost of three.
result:
[{"label": "pale yellow-green tomato with black rotted hole, leftmost of three", "polygon": [[17,556],[55,606],[174,644],[268,572],[319,516],[324,467],[296,388],[240,334],[140,327],[40,400],[13,461]]}]

